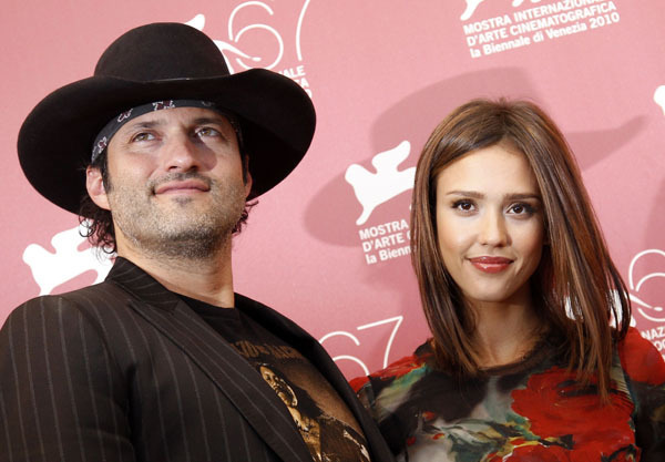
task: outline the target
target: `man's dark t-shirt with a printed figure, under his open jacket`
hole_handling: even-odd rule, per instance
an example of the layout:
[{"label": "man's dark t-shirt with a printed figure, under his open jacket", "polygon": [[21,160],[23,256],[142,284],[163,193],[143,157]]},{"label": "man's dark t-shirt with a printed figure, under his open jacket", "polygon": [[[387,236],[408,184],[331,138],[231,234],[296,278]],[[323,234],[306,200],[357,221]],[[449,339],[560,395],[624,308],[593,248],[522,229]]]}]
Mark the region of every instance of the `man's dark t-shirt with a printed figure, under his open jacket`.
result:
[{"label": "man's dark t-shirt with a printed figure, under his open jacket", "polygon": [[182,297],[253,365],[286,405],[317,462],[369,461],[367,442],[335,389],[298,350],[241,309]]}]

